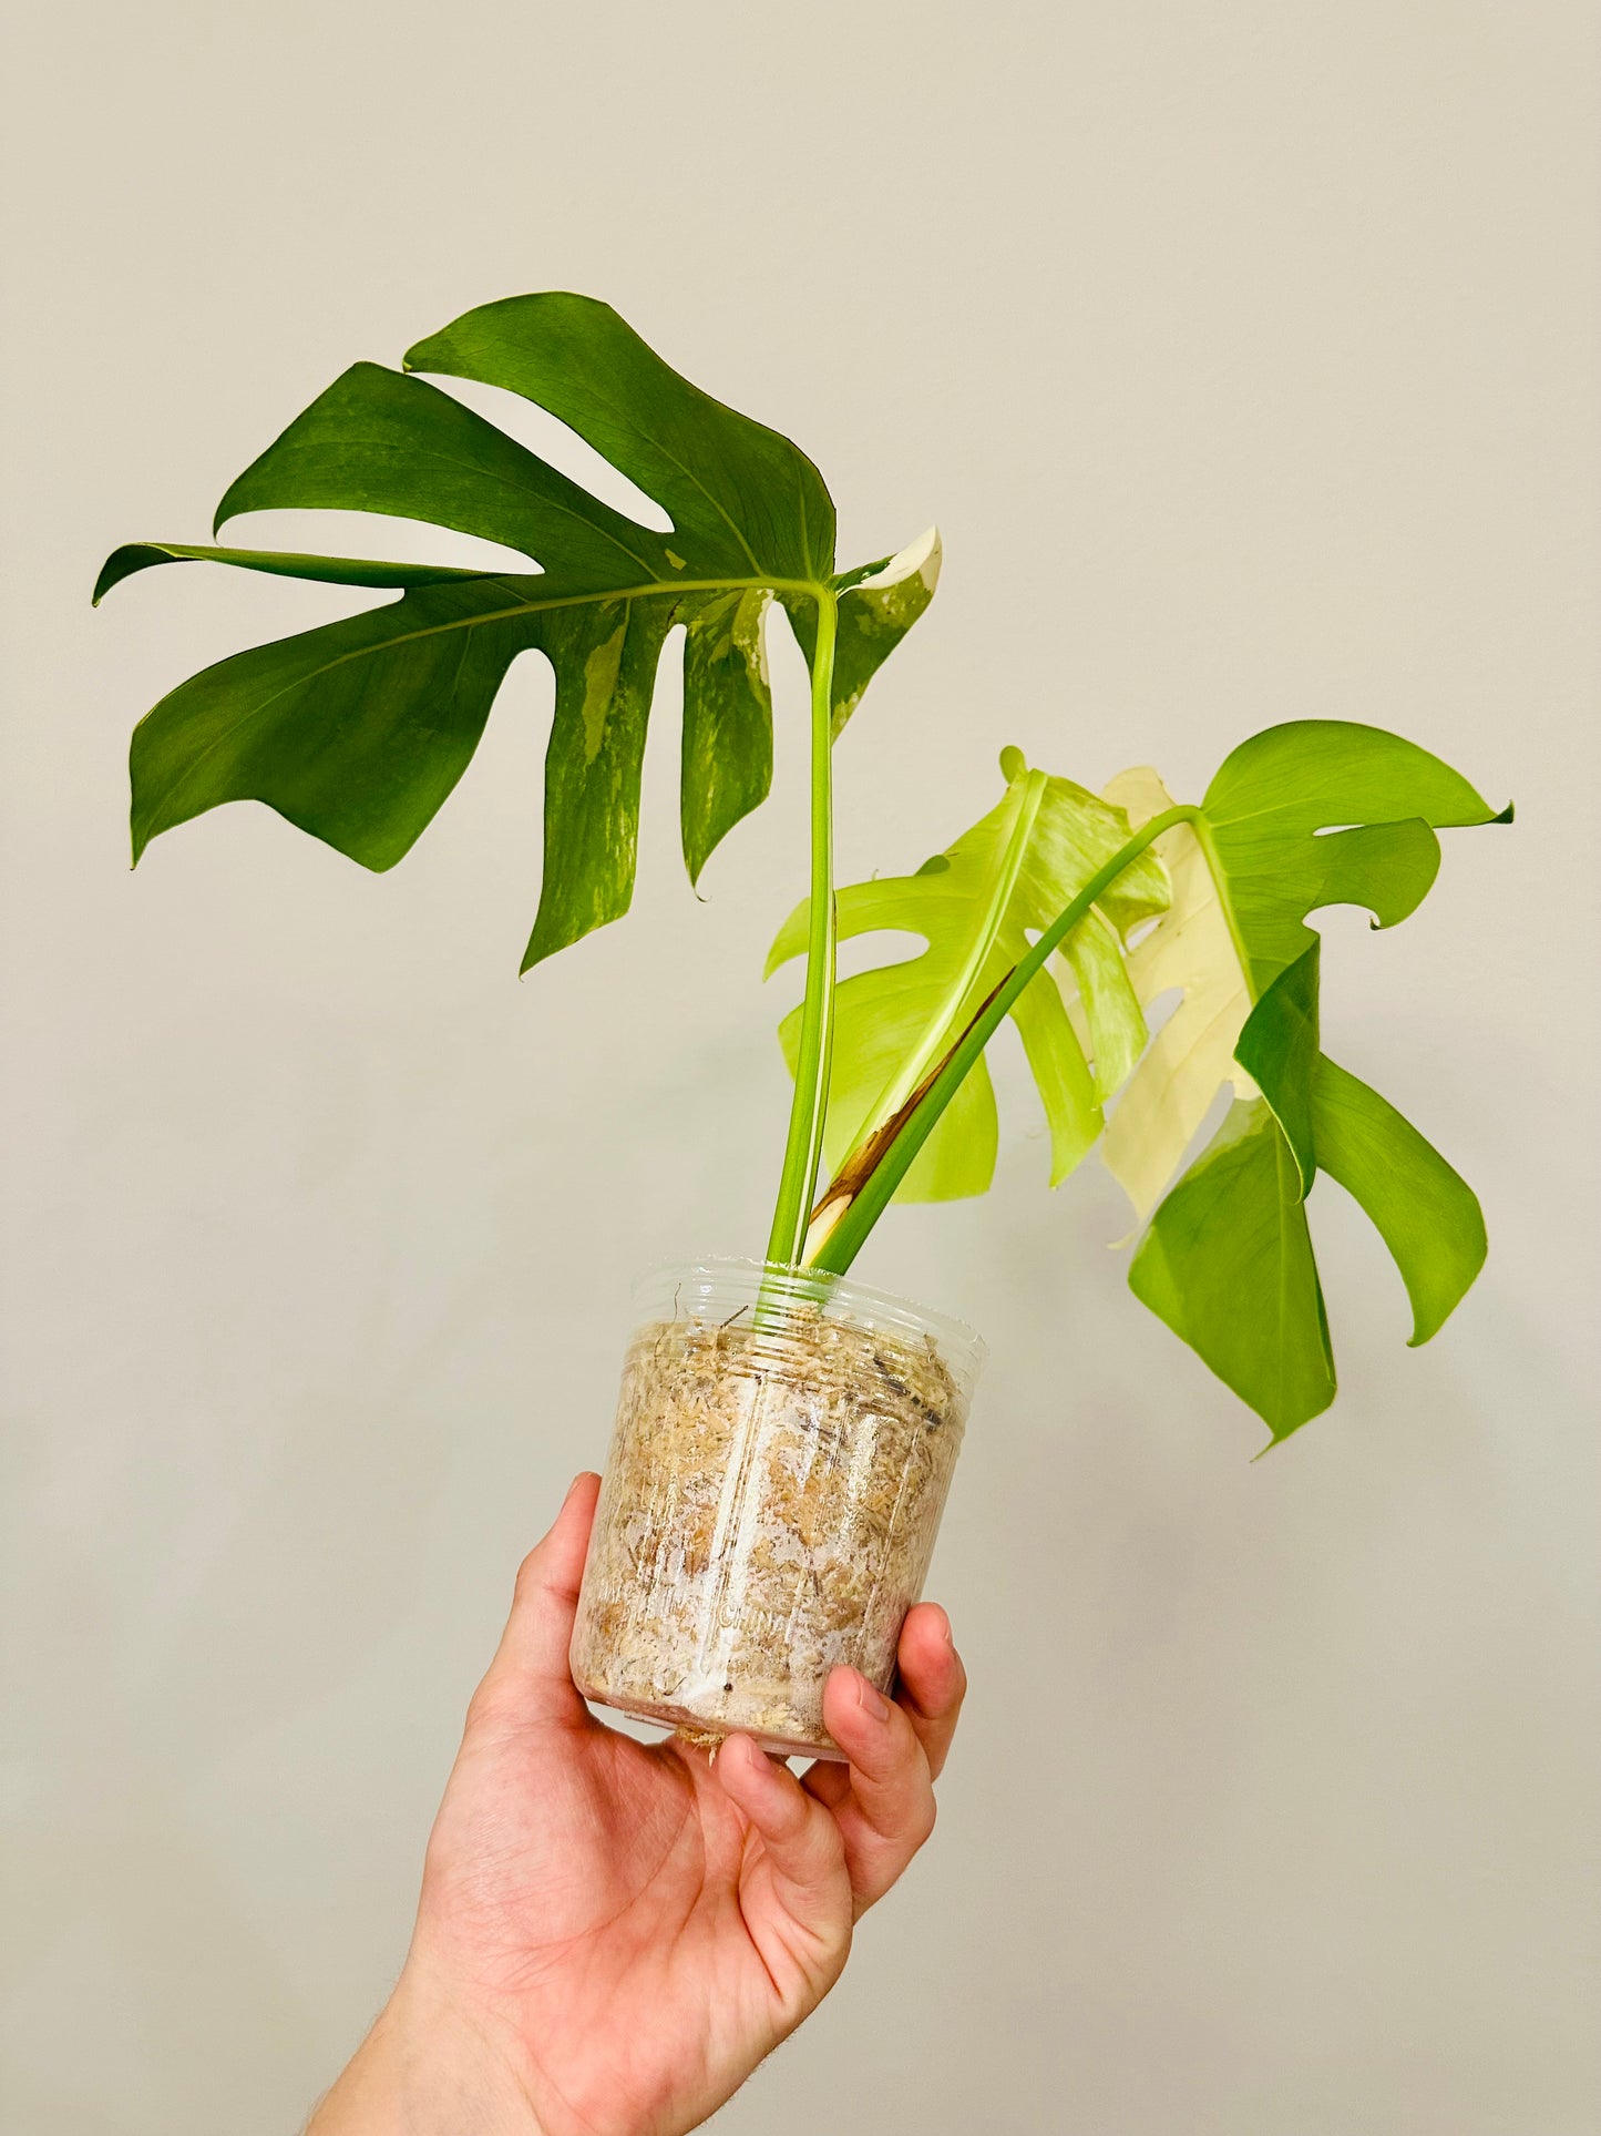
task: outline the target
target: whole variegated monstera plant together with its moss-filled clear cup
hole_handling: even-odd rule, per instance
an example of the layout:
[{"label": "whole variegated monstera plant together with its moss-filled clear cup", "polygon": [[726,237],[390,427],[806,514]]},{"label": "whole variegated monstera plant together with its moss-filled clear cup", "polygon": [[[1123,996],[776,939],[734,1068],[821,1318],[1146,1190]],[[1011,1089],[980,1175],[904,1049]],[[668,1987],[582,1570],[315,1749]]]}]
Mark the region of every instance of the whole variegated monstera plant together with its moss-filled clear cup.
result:
[{"label": "whole variegated monstera plant together with its moss-filled clear cup", "polygon": [[[425,376],[538,404],[666,513],[591,496]],[[1140,1220],[1129,1282],[1279,1442],[1334,1399],[1306,1200],[1336,1179],[1377,1226],[1426,1341],[1486,1250],[1445,1158],[1323,1053],[1309,916],[1407,918],[1439,831],[1505,822],[1428,750],[1302,720],[1240,743],[1198,803],[1155,771],[1095,795],[1001,754],[988,814],[912,876],[835,886],[835,743],[929,607],[933,532],[837,570],[835,506],[798,446],[672,372],[604,303],[512,297],[356,363],[228,487],[252,511],[433,521],[527,570],[132,543],[137,570],[218,562],[397,594],[235,654],[132,739],[134,859],[224,801],[265,801],[393,867],[465,771],[510,662],[555,671],[544,878],[523,970],[619,918],[662,651],[683,630],[681,831],[692,880],[773,778],[764,639],[783,609],[809,671],[807,895],[768,970],[805,955],[794,1072],[760,1262],[651,1292],[630,1350],[572,1645],[581,1690],[692,1734],[745,1728],[837,1756],[830,1666],[890,1687],[980,1348],[847,1282],[897,1194],[980,1194],[997,1147],[984,1049],[1012,1019],[1050,1128],[1052,1185],[1101,1151]],[[1067,724],[1067,716],[1063,716]],[[922,951],[837,983],[841,936]],[[1227,1094],[1212,1141],[1191,1147]],[[820,1190],[824,1151],[830,1166]]]}]

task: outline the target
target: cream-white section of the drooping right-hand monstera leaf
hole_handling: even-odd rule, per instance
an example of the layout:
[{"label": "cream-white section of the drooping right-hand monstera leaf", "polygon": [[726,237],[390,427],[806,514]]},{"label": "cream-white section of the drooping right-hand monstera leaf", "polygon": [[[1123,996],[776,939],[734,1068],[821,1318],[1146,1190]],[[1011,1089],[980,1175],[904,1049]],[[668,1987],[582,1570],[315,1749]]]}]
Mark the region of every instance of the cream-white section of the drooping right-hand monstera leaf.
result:
[{"label": "cream-white section of the drooping right-hand monstera leaf", "polygon": [[[1127,810],[1136,829],[1174,805],[1148,767],[1121,771],[1104,799]],[[1101,1136],[1106,1168],[1140,1218],[1161,1200],[1223,1083],[1240,1098],[1257,1096],[1234,1059],[1251,993],[1206,854],[1187,822],[1166,831],[1153,850],[1172,880],[1172,904],[1127,953],[1129,978],[1146,1015],[1163,993],[1180,989],[1183,1000],[1146,1049]]]}]

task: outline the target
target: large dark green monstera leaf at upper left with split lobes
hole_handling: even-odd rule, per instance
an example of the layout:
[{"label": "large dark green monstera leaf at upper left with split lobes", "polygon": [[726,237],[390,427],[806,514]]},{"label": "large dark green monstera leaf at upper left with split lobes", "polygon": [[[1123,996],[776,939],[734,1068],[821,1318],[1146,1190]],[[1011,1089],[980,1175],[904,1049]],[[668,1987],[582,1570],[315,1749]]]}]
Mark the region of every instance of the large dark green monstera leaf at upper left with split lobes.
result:
[{"label": "large dark green monstera leaf at upper left with split lobes", "polygon": [[[660,534],[414,376],[472,378],[568,423],[670,517]],[[933,596],[939,545],[835,572],[835,506],[788,438],[670,370],[617,312],[510,297],[418,342],[406,370],[356,363],[218,506],[423,519],[529,557],[453,570],[258,549],[132,543],[96,600],[154,564],[209,560],[401,598],[222,660],[132,741],[134,859],[224,801],[265,801],[365,867],[399,861],[478,745],[517,654],[555,669],[544,882],[523,970],[628,910],[640,763],[668,632],[683,643],[681,835],[692,878],[773,775],[764,619],[777,596],[809,645],[839,604],[835,724]],[[536,568],[538,566],[538,568]]]}]

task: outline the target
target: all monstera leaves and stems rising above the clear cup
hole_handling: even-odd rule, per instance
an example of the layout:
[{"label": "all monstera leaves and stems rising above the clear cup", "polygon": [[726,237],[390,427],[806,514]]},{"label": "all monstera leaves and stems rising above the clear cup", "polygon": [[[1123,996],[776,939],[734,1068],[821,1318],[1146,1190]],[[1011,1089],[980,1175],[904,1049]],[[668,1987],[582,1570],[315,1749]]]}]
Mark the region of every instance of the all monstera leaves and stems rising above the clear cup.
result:
[{"label": "all monstera leaves and stems rising above the clear cup", "polygon": [[[421,374],[549,410],[653,498],[670,532],[604,504]],[[489,303],[410,348],[401,370],[352,365],[226,489],[213,532],[280,508],[433,521],[529,568],[117,549],[96,600],[173,562],[399,594],[235,654],[141,720],[134,861],[160,831],[254,799],[365,867],[393,867],[465,771],[506,669],[534,649],[555,671],[555,718],[527,970],[628,910],[645,728],[679,626],[692,880],[762,803],[777,602],[811,677],[811,869],[768,961],[805,955],[807,974],[781,1030],[796,1089],[773,1265],[839,1275],[892,1196],[984,1192],[997,1147],[984,1047],[1010,1017],[1050,1128],[1052,1185],[1099,1147],[1144,1224],[1136,1294],[1274,1440],[1334,1399],[1306,1224],[1319,1171],[1390,1247],[1413,1341],[1473,1282],[1486,1241],[1471,1190],[1321,1049],[1306,925],[1334,904],[1394,925],[1434,880],[1439,829],[1509,820],[1437,756],[1373,726],[1291,722],[1236,748],[1200,803],[1176,805],[1153,771],[1093,795],[1005,750],[1001,799],[946,852],[914,876],[837,891],[835,743],[929,607],[939,538],[837,570],[835,506],[805,453],[692,387],[587,297]],[[926,946],[837,983],[837,940],[879,931]],[[1183,1168],[1223,1089],[1221,1128]],[[818,1194],[824,1147],[835,1177]]]}]

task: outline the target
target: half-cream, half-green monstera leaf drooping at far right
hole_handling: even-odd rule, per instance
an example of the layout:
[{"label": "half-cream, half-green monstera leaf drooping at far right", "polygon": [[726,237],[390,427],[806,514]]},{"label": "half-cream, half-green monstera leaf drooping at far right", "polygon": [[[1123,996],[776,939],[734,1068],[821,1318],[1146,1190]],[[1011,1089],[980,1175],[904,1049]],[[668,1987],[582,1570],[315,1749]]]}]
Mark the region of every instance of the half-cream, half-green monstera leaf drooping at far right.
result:
[{"label": "half-cream, half-green monstera leaf drooping at far right", "polygon": [[[1146,786],[1136,799],[1138,778],[1151,780],[1125,778],[1112,792],[1148,820],[1166,795]],[[1413,1305],[1413,1344],[1441,1329],[1486,1254],[1467,1181],[1321,1051],[1319,936],[1306,914],[1362,906],[1375,927],[1394,927],[1439,874],[1439,829],[1507,820],[1511,810],[1492,810],[1439,756],[1398,735],[1298,720],[1242,743],[1195,822],[1157,842],[1176,897],[1136,948],[1131,980],[1146,1004],[1174,985],[1185,998],[1106,1138],[1136,1209],[1157,1203],[1129,1284],[1274,1440],[1336,1393],[1306,1222],[1319,1171],[1362,1205],[1390,1247]],[[1157,1200],[1223,1083],[1234,1085],[1223,1126]]]}]

